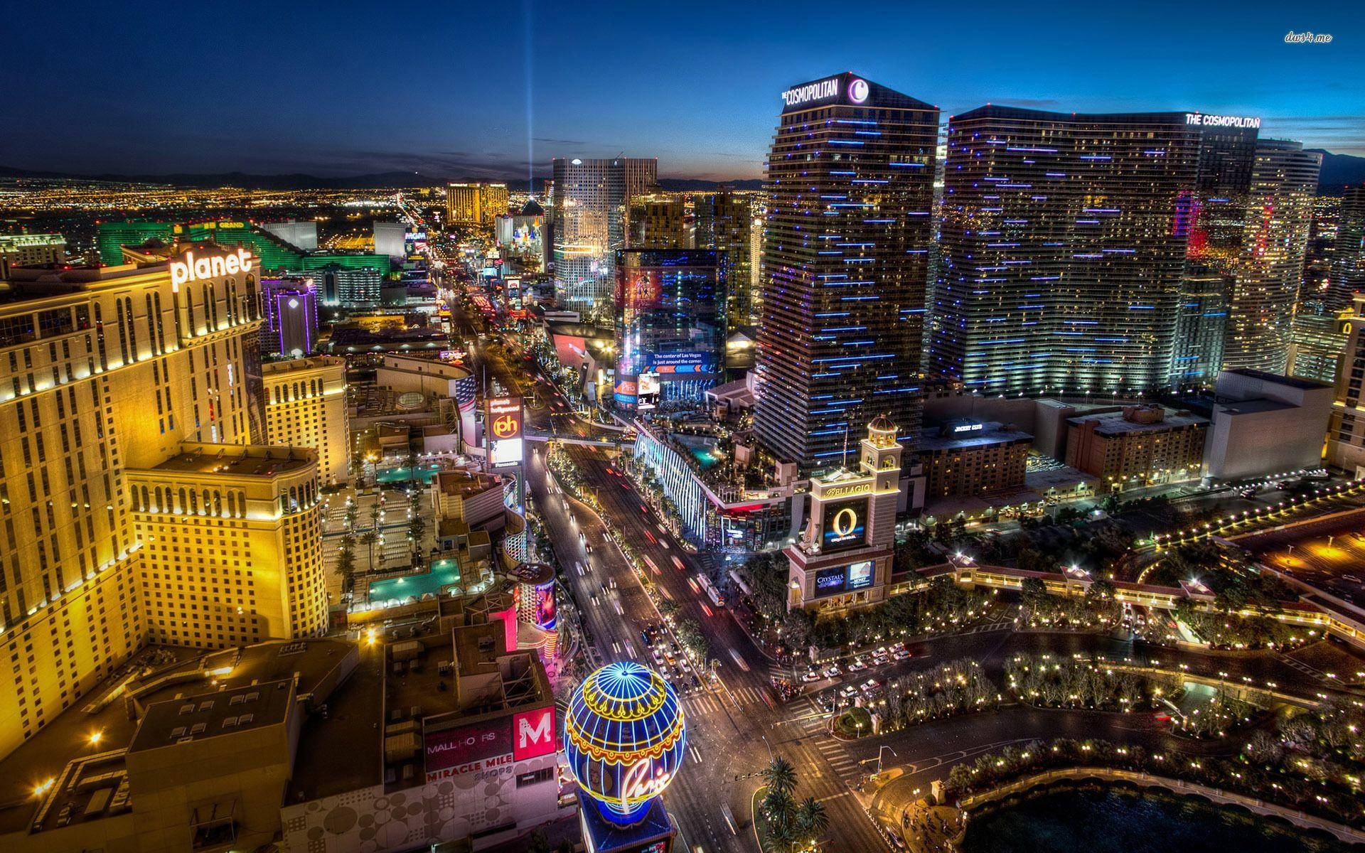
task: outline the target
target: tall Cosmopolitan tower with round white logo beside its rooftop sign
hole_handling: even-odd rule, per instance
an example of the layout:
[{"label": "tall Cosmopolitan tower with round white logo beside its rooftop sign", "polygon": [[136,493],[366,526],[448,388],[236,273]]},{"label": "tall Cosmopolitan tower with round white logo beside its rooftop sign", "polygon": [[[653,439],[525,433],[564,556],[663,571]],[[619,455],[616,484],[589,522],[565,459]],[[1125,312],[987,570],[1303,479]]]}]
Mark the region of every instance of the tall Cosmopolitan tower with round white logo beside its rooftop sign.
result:
[{"label": "tall Cosmopolitan tower with round white logo beside its rooftop sign", "polygon": [[753,427],[808,471],[838,464],[845,445],[856,454],[879,412],[919,434],[939,113],[852,72],[793,86],[782,102]]}]

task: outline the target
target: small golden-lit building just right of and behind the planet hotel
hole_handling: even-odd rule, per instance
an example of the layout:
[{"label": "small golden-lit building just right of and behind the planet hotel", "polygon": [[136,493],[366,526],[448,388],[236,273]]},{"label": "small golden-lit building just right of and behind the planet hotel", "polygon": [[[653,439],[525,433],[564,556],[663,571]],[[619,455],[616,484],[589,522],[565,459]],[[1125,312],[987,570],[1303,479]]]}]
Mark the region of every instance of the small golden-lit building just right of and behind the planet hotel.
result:
[{"label": "small golden-lit building just right of and behind the planet hotel", "polygon": [[313,448],[326,485],[349,479],[351,439],[345,409],[345,359],[314,356],[270,362],[265,381],[266,444]]}]

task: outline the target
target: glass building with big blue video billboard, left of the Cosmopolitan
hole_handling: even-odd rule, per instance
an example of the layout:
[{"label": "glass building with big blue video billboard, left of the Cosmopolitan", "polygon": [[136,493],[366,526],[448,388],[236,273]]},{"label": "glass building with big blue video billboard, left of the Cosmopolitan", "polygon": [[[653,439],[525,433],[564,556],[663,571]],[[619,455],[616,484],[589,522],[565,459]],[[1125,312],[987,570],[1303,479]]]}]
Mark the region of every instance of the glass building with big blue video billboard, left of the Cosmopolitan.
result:
[{"label": "glass building with big blue video billboard, left of the Cosmopolitan", "polygon": [[616,401],[702,400],[725,373],[729,257],[625,250],[616,257]]}]

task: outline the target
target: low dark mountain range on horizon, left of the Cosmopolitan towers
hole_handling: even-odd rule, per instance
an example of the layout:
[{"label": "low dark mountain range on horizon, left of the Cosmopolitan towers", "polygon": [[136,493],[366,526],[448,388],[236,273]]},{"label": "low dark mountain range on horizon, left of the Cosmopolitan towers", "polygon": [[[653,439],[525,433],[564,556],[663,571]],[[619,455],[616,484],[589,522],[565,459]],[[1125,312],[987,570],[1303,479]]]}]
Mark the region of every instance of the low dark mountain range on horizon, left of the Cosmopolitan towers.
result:
[{"label": "low dark mountain range on horizon, left of the Cosmopolitan towers", "polygon": [[[135,183],[135,184],[169,184],[173,187],[242,187],[243,190],[401,190],[407,187],[440,187],[449,179],[431,177],[418,172],[377,172],[373,175],[352,175],[347,177],[318,177],[317,175],[247,175],[244,172],[222,172],[217,175],[71,175],[64,172],[35,172],[31,169],[15,169],[0,167],[0,179],[40,179],[40,180],[89,180],[102,183]],[[539,186],[542,180],[536,179]],[[513,191],[527,191],[527,180],[508,180],[506,184]],[[659,184],[665,190],[714,190],[722,182],[700,180],[695,177],[662,177]],[[736,190],[760,190],[762,180],[733,180],[723,182]]]}]

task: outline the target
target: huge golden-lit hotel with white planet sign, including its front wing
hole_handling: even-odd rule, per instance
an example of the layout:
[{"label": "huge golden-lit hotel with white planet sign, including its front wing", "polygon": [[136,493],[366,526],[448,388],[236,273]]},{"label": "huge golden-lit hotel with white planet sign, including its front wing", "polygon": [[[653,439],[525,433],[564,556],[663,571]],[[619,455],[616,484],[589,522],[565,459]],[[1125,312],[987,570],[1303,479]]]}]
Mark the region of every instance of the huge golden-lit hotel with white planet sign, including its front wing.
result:
[{"label": "huge golden-lit hotel with white planet sign, including its front wing", "polygon": [[0,755],[149,640],[326,625],[317,453],[263,439],[255,258],[15,268],[0,302]]}]

